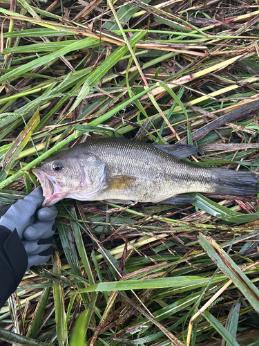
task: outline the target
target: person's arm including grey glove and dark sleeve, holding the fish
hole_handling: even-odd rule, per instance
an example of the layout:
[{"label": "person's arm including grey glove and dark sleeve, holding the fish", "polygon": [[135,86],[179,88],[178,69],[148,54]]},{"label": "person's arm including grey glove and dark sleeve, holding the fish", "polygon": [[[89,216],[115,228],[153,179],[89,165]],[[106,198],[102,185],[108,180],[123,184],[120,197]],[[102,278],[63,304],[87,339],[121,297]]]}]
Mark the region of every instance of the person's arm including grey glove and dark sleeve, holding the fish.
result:
[{"label": "person's arm including grey glove and dark sleeve, holding the fish", "polygon": [[0,208],[0,308],[32,265],[45,264],[52,253],[57,209],[40,208],[41,188],[11,206]]}]

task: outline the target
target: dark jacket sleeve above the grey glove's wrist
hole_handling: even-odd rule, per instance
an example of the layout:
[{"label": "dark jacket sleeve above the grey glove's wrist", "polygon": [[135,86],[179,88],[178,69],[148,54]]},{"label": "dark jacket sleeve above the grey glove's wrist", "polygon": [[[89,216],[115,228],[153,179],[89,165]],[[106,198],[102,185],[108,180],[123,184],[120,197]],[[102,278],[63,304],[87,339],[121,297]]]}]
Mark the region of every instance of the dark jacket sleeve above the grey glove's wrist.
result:
[{"label": "dark jacket sleeve above the grey glove's wrist", "polygon": [[28,256],[17,230],[0,226],[0,308],[17,289],[27,266]]}]

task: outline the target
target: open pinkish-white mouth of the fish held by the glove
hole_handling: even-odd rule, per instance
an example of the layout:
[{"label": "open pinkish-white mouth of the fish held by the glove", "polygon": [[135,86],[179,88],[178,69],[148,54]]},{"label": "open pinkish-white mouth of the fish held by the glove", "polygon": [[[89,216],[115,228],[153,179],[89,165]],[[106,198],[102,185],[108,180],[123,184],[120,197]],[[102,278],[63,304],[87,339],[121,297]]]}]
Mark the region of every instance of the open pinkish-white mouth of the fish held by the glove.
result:
[{"label": "open pinkish-white mouth of the fish held by the glove", "polygon": [[53,206],[53,204],[57,203],[61,199],[66,198],[67,194],[61,192],[61,187],[57,181],[55,181],[53,176],[38,169],[32,170],[32,173],[37,176],[45,197],[41,207]]}]

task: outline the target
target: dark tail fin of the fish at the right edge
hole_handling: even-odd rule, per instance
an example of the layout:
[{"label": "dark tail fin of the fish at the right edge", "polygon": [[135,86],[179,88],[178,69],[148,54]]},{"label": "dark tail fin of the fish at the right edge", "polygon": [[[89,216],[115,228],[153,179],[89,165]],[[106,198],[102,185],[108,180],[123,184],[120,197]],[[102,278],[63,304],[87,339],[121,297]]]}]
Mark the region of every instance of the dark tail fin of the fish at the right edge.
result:
[{"label": "dark tail fin of the fish at the right edge", "polygon": [[251,172],[224,170],[211,168],[217,179],[216,194],[229,194],[233,196],[247,196],[258,194],[258,176]]}]

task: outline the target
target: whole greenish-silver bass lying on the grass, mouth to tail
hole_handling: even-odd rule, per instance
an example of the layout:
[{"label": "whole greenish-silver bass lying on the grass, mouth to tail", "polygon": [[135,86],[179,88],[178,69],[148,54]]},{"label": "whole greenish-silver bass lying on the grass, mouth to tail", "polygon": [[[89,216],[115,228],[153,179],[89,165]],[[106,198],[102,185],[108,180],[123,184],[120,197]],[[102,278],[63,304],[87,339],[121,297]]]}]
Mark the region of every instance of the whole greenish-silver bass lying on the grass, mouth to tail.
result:
[{"label": "whole greenish-silver bass lying on the grass, mouth to tail", "polygon": [[101,138],[59,152],[32,172],[43,189],[43,206],[65,198],[183,204],[193,201],[188,192],[233,196],[259,192],[258,177],[252,172],[181,161],[197,152],[193,145]]}]

